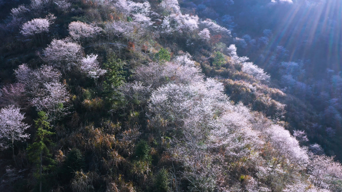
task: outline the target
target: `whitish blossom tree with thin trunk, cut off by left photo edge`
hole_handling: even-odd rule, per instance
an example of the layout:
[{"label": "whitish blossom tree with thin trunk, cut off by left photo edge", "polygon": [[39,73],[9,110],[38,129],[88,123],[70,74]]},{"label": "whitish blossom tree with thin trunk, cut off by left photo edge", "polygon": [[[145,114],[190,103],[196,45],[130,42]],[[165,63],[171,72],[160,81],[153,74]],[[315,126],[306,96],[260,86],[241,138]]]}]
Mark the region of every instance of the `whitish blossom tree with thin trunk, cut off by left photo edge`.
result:
[{"label": "whitish blossom tree with thin trunk, cut off by left photo edge", "polygon": [[[29,138],[29,134],[25,133],[29,126],[22,122],[24,118],[24,114],[14,105],[9,105],[0,110],[0,138],[3,140],[0,147],[4,149],[11,147],[13,157],[14,142]],[[8,144],[8,141],[11,144]]]}]

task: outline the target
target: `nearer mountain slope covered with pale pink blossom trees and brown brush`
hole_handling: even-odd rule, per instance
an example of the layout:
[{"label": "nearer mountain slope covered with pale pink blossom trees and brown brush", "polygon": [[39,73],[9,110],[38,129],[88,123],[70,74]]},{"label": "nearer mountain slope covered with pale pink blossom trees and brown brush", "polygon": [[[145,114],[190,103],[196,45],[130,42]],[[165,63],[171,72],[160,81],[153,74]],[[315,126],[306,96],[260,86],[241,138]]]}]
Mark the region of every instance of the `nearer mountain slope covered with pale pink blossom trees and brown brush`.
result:
[{"label": "nearer mountain slope covered with pale pink blossom trees and brown brush", "polygon": [[11,9],[0,112],[25,119],[0,116],[1,190],[340,191],[342,166],[284,129],[298,122],[288,104],[306,105],[224,44],[230,30],[187,11],[175,0]]}]

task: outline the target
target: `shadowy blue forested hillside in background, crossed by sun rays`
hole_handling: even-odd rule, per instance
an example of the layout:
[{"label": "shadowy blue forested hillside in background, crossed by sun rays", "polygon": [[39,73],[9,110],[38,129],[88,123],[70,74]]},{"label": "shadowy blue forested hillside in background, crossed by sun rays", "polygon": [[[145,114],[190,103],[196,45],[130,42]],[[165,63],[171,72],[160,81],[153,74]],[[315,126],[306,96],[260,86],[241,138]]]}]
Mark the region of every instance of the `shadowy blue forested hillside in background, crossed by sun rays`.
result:
[{"label": "shadowy blue forested hillside in background, crossed by sun rays", "polygon": [[280,101],[286,104],[290,129],[305,130],[311,142],[341,160],[341,3],[184,0],[182,6],[231,30],[230,43],[238,54],[248,56],[270,74],[273,86],[291,95]]}]

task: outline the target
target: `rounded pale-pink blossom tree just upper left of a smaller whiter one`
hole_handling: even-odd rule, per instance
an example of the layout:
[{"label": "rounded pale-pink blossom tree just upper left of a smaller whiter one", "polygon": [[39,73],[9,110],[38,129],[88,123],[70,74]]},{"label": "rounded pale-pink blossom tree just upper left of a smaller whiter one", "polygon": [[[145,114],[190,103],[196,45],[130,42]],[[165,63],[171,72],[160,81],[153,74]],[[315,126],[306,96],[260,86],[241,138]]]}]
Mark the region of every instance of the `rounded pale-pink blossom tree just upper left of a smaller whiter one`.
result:
[{"label": "rounded pale-pink blossom tree just upper left of a smaller whiter one", "polygon": [[65,72],[78,65],[82,59],[83,49],[79,44],[68,42],[67,39],[53,39],[42,53],[44,61]]}]

